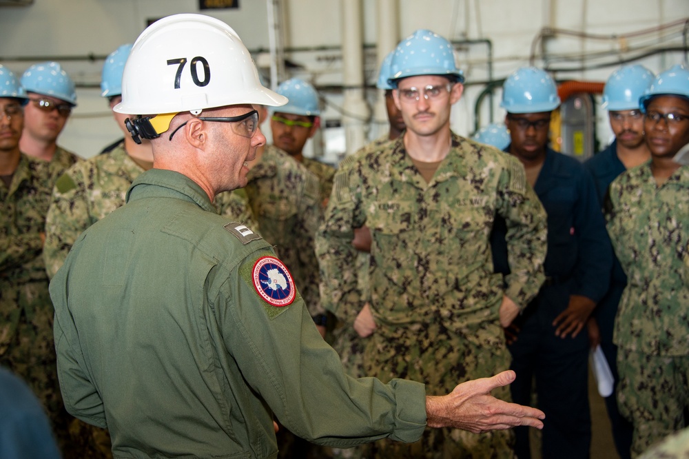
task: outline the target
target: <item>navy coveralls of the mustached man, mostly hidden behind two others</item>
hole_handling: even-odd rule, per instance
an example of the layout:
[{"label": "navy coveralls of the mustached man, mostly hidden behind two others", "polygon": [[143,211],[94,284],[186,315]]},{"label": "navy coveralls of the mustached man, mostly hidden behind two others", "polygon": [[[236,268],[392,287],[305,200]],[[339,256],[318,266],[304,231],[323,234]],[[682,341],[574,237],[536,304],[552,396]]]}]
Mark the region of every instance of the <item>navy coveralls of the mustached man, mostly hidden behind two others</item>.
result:
[{"label": "navy coveralls of the mustached man, mostly hidden behind two others", "polygon": [[[593,176],[598,202],[602,208],[610,183],[613,183],[613,180],[617,179],[619,174],[626,171],[626,167],[624,167],[622,161],[619,161],[617,156],[617,140],[613,141],[605,150],[597,153],[593,158],[588,159],[584,163],[584,169]],[[610,370],[613,371],[615,389],[617,389],[619,377],[617,376],[617,346],[613,344],[613,329],[615,327],[615,315],[617,314],[619,298],[622,296],[622,291],[626,285],[627,276],[624,274],[617,256],[613,254],[613,272],[610,276],[610,287],[608,293],[596,306],[593,316],[600,329],[601,349],[603,349],[603,354],[605,354],[606,360],[608,360]],[[613,391],[613,395],[605,399],[608,418],[610,418],[610,425],[613,428],[613,440],[615,440],[615,447],[620,459],[630,459],[633,426],[631,422],[619,414],[617,398],[615,397],[616,391]]]}]

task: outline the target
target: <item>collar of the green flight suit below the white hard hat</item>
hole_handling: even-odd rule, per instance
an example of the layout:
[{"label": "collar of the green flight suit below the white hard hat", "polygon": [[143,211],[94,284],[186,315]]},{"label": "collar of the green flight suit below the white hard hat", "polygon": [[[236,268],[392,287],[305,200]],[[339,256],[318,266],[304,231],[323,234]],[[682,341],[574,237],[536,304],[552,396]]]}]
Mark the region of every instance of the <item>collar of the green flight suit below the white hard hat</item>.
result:
[{"label": "collar of the green flight suit below the white hard hat", "polygon": [[127,190],[127,203],[141,198],[177,198],[196,203],[207,212],[216,213],[216,207],[203,189],[189,177],[179,172],[152,169],[136,177]]}]

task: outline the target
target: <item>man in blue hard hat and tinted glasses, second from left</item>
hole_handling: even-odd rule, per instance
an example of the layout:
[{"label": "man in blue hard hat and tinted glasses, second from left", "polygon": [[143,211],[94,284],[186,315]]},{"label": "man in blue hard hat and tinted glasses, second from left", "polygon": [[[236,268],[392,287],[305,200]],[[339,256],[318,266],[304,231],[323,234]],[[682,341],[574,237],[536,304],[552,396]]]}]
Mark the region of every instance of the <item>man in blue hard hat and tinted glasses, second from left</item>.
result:
[{"label": "man in blue hard hat and tinted glasses, second from left", "polygon": [[81,158],[57,145],[72,109],[76,107],[76,87],[57,62],[31,65],[21,76],[29,103],[24,130],[19,140],[21,151],[50,162],[55,179]]}]

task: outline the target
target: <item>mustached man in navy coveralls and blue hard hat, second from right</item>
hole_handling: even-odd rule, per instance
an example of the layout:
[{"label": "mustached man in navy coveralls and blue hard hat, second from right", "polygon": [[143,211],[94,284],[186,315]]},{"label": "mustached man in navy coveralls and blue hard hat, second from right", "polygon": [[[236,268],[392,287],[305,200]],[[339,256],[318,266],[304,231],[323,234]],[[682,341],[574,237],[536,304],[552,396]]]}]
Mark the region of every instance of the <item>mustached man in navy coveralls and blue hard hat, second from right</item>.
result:
[{"label": "mustached man in navy coveralls and blue hard hat, second from right", "polygon": [[[601,106],[608,110],[610,128],[615,139],[605,150],[584,163],[584,168],[593,176],[601,209],[610,183],[622,172],[645,163],[650,157],[639,98],[648,90],[653,78],[652,72],[643,65],[625,65],[610,74],[606,81]],[[613,272],[610,274],[608,292],[599,301],[588,323],[591,345],[593,347],[600,343],[615,379],[615,387],[619,383],[619,377],[613,327],[619,298],[626,284],[624,270],[617,256],[613,256]],[[630,458],[632,425],[619,414],[614,389],[613,394],[605,398],[605,402],[617,453],[621,459]]]}]

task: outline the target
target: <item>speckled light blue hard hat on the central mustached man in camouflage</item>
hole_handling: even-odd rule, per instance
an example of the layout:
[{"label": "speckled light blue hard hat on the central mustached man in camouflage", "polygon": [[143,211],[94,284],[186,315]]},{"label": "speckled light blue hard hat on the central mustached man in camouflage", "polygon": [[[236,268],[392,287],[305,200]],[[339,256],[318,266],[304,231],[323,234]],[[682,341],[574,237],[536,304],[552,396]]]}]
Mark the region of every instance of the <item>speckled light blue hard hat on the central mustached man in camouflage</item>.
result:
[{"label": "speckled light blue hard hat on the central mustached man in camouflage", "polygon": [[458,83],[464,82],[452,43],[426,29],[417,30],[400,41],[393,54],[390,74],[388,83],[393,88],[397,88],[400,79],[417,75],[442,75]]}]

